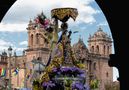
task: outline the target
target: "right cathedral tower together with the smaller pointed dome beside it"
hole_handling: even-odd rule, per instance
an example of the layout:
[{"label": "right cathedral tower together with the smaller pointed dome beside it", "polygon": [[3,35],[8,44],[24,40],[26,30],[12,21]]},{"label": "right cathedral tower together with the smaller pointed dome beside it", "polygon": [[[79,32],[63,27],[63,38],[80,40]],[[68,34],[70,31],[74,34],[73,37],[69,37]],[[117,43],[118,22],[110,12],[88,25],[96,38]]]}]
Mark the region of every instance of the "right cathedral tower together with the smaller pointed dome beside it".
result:
[{"label": "right cathedral tower together with the smaller pointed dome beside it", "polygon": [[102,28],[99,28],[88,39],[88,48],[79,38],[73,45],[77,60],[86,65],[86,81],[99,80],[99,90],[105,90],[105,85],[113,82],[113,69],[108,66],[109,54],[112,53],[112,40]]}]

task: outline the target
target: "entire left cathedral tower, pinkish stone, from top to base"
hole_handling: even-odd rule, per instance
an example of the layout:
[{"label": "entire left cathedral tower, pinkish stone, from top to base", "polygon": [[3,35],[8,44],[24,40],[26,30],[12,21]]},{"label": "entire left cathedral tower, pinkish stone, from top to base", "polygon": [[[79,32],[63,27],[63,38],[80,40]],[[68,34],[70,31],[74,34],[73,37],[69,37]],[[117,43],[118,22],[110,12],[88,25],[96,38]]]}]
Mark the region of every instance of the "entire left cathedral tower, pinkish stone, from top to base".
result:
[{"label": "entire left cathedral tower, pinkish stone, from top to base", "polygon": [[[31,78],[26,81],[27,87],[32,87],[32,78],[37,78],[39,76],[35,73],[35,65],[33,61],[40,62],[44,65],[47,64],[49,58],[50,45],[46,41],[45,29],[40,27],[34,21],[29,21],[28,27],[28,49],[25,50],[26,55],[26,72],[32,75]],[[39,69],[39,68],[37,68]],[[40,66],[40,70],[42,67]],[[27,74],[26,73],[26,74]]]}]

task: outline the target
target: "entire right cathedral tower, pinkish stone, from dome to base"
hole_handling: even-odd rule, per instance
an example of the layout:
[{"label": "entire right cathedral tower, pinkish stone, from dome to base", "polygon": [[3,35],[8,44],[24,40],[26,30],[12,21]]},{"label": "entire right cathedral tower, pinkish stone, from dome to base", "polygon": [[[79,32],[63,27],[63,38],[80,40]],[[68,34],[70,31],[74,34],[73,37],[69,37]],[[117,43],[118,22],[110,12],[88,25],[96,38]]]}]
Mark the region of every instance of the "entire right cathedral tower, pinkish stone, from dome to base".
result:
[{"label": "entire right cathedral tower, pinkish stone, from dome to base", "polygon": [[113,68],[108,66],[109,55],[112,53],[111,37],[99,27],[97,32],[90,35],[88,49],[91,53],[91,73],[100,80],[100,90],[105,90],[105,85],[113,81]]}]

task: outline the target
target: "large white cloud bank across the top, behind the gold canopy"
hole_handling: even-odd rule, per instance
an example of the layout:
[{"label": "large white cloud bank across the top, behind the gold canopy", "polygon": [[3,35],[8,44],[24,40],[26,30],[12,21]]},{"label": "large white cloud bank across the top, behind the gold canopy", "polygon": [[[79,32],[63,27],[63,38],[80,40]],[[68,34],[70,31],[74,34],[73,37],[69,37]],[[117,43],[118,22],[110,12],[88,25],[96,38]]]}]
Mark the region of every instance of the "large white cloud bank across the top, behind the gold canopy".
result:
[{"label": "large white cloud bank across the top, behind the gold canopy", "polygon": [[71,25],[77,25],[79,23],[92,24],[96,22],[94,15],[100,13],[99,10],[90,6],[92,2],[94,0],[18,0],[3,18],[0,31],[26,31],[26,23],[28,23],[30,18],[33,19],[41,11],[44,11],[47,17],[50,18],[51,10],[61,7],[78,9],[79,15],[77,20],[76,22],[70,21],[69,23]]}]

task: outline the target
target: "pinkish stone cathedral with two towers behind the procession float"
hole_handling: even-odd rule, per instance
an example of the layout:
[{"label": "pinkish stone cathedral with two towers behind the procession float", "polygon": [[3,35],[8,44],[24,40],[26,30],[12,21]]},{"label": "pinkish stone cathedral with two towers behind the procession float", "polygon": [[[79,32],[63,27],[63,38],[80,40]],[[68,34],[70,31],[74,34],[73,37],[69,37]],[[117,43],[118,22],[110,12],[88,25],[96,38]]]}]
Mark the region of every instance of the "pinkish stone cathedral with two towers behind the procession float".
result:
[{"label": "pinkish stone cathedral with two towers behind the procession float", "polygon": [[[28,48],[23,51],[22,56],[16,53],[11,57],[11,69],[19,68],[19,73],[12,76],[12,87],[32,87],[34,80],[34,60],[39,60],[44,65],[47,64],[50,55],[50,45],[45,39],[45,30],[35,27],[30,20],[28,27]],[[108,66],[109,55],[112,53],[112,39],[99,28],[88,38],[88,47],[79,38],[78,42],[72,46],[75,56],[86,65],[86,81],[90,84],[93,79],[99,80],[99,90],[105,90],[105,84],[113,82],[113,68]],[[9,59],[7,53],[3,52],[0,58],[0,66],[8,70]],[[40,69],[40,68],[39,68]],[[27,75],[30,78],[27,79]],[[38,75],[38,74],[37,74]],[[7,72],[6,78],[9,74]]]}]

